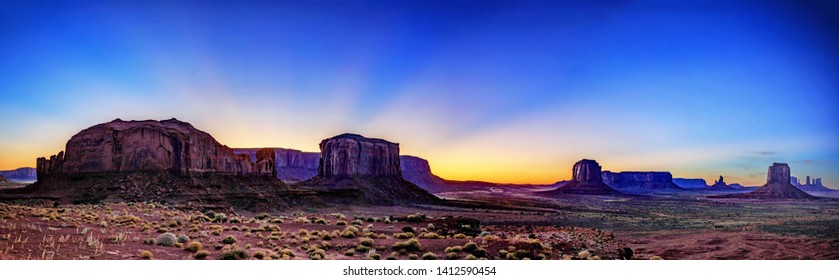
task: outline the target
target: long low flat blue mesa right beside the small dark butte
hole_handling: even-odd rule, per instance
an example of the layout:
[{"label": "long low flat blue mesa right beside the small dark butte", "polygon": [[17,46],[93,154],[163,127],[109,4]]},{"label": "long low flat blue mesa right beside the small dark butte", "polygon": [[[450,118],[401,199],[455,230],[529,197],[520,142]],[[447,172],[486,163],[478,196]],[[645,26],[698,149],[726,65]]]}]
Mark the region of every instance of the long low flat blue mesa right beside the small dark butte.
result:
[{"label": "long low flat blue mesa right beside the small dark butte", "polygon": [[662,190],[684,190],[673,183],[670,172],[656,171],[603,171],[603,183],[624,192],[651,192]]}]

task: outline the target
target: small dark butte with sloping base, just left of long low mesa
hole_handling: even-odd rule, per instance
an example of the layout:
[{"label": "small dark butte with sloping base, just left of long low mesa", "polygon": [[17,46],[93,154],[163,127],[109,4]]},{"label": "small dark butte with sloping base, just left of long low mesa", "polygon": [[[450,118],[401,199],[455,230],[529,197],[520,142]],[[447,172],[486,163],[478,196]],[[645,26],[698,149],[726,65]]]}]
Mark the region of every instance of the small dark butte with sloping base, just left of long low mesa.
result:
[{"label": "small dark butte with sloping base, just left of long low mesa", "polygon": [[618,192],[603,183],[600,164],[597,161],[583,159],[574,164],[571,182],[544,192],[546,195],[613,195]]}]

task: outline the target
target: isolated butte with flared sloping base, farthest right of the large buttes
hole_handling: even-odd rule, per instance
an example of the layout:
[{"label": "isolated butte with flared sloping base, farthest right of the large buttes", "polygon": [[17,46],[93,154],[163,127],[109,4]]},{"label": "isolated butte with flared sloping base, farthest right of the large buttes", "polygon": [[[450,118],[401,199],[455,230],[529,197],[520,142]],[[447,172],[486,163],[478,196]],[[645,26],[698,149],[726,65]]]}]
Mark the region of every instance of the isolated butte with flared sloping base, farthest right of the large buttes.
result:
[{"label": "isolated butte with flared sloping base, farthest right of the large buttes", "polygon": [[790,183],[790,168],[786,163],[773,163],[766,176],[766,184],[744,194],[728,197],[754,199],[812,199],[815,198],[799,190]]}]

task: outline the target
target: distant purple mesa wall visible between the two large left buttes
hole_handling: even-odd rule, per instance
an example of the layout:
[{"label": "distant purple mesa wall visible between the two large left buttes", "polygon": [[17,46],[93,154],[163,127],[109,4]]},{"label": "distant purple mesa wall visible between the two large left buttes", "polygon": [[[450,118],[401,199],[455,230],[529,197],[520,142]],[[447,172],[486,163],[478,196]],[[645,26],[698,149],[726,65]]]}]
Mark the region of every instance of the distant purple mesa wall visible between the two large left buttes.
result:
[{"label": "distant purple mesa wall visible between the two large left buttes", "polygon": [[[286,148],[274,149],[274,169],[277,171],[277,178],[285,182],[300,182],[318,175],[318,164],[320,153],[303,152]],[[255,148],[234,148],[236,154],[247,154],[251,160],[256,161]]]}]

